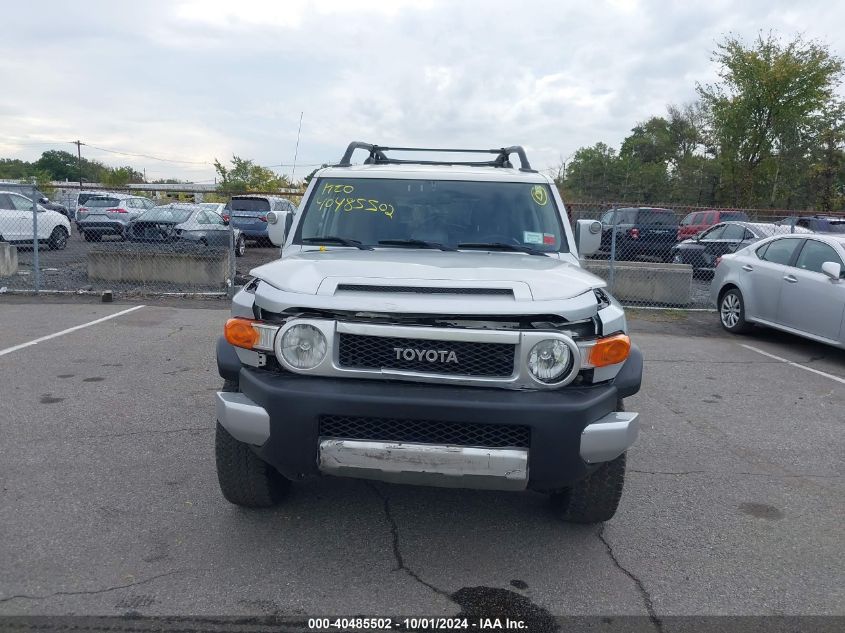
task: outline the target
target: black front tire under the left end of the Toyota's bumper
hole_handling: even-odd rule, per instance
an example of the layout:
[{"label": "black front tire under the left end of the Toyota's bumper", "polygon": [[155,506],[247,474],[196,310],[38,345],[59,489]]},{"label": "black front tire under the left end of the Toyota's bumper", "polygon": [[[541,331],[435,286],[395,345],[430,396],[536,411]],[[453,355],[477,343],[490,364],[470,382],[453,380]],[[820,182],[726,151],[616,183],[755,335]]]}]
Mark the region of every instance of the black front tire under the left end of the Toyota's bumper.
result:
[{"label": "black front tire under the left end of the Toyota's bumper", "polygon": [[[237,390],[237,382],[223,383],[223,391]],[[227,501],[245,508],[269,508],[284,498],[290,481],[258,457],[248,444],[232,437],[219,422],[214,444],[217,481]]]}]

